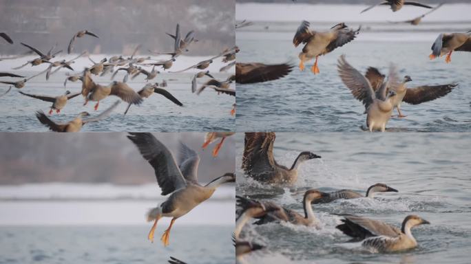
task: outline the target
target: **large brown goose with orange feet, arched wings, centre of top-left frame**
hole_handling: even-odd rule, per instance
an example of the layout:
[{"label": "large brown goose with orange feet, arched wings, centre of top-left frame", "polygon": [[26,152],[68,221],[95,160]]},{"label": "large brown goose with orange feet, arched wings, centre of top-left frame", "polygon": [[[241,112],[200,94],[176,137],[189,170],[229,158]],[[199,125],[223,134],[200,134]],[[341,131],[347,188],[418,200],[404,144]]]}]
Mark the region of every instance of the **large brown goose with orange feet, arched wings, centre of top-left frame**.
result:
[{"label": "large brown goose with orange feet, arched wings, centre of top-left frame", "polygon": [[83,105],[86,105],[88,101],[94,101],[96,102],[94,106],[96,111],[100,101],[108,96],[118,96],[121,100],[131,104],[141,104],[143,102],[143,98],[141,98],[136,91],[127,84],[114,81],[107,86],[95,84],[94,88],[85,98],[85,103]]}]

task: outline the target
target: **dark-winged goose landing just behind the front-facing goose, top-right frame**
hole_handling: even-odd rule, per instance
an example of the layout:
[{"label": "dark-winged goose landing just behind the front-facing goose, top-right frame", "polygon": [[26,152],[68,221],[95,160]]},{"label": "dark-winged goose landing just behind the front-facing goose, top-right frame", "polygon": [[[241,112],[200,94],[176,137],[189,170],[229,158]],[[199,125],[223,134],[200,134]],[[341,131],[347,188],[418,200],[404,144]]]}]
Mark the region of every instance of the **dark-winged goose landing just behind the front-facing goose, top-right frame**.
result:
[{"label": "dark-winged goose landing just behind the front-facing goose, top-right frame", "polygon": [[[375,92],[384,82],[384,74],[381,74],[375,67],[368,67],[365,77],[370,81]],[[450,83],[448,85],[422,85],[414,88],[407,88],[406,83],[412,81],[410,76],[404,76],[402,82],[395,86],[396,96],[392,99],[392,106],[397,109],[399,118],[404,118],[406,115],[401,113],[401,102],[407,102],[408,104],[421,104],[422,102],[428,102],[437,98],[446,96],[450,91],[457,87],[456,83]]]}]

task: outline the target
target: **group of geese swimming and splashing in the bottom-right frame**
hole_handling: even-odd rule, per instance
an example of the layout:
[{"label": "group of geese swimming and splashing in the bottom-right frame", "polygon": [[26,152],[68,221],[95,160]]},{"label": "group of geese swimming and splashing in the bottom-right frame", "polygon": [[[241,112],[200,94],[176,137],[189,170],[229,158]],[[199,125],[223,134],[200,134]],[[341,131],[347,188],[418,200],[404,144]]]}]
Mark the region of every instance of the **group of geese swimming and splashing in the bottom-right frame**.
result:
[{"label": "group of geese swimming and splashing in the bottom-right frame", "polygon": [[[276,162],[273,157],[273,144],[275,133],[245,133],[244,153],[242,156],[242,169],[247,177],[266,186],[291,186],[297,180],[297,169],[302,162],[309,159],[321,158],[319,155],[309,151],[301,152],[291,165],[283,166]],[[334,192],[322,192],[317,189],[308,189],[304,192],[302,199],[303,213],[291,208],[274,203],[273,201],[262,201],[236,195],[236,206],[238,218],[235,223],[235,247],[236,256],[241,260],[244,254],[260,250],[263,245],[245,241],[240,234],[244,225],[251,219],[253,225],[266,223],[291,223],[293,225],[304,225],[313,228],[321,228],[320,221],[315,217],[313,204],[330,203],[337,199],[358,199],[368,197],[373,199],[378,192],[398,192],[386,184],[373,184],[365,194],[354,190],[337,190]],[[408,215],[402,221],[401,228],[395,227],[375,219],[343,214],[342,223],[335,228],[350,236],[350,241],[362,241],[362,247],[375,252],[397,252],[417,247],[417,241],[410,231],[411,228],[427,224],[428,221]]]}]

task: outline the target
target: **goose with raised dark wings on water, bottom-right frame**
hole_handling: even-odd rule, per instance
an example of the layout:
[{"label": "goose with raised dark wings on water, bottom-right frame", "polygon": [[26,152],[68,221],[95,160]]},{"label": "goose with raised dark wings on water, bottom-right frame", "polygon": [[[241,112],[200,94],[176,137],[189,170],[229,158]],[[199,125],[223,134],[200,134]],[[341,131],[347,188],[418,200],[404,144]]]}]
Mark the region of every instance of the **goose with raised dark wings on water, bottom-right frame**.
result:
[{"label": "goose with raised dark wings on water, bottom-right frame", "polygon": [[245,133],[242,168],[257,181],[267,184],[294,184],[297,180],[297,168],[309,159],[318,159],[309,151],[300,153],[291,168],[280,165],[273,157],[275,133]]}]

